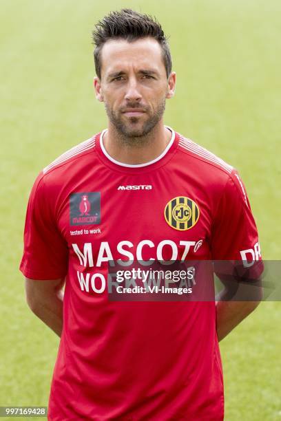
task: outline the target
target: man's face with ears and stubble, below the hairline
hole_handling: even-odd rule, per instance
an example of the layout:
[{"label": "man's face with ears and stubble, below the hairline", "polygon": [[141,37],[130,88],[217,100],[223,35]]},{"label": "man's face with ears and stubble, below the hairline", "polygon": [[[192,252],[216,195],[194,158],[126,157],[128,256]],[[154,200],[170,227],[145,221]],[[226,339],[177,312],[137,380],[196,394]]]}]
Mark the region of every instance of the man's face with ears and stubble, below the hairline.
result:
[{"label": "man's face with ears and stubble, below the hairline", "polygon": [[165,100],[174,95],[176,75],[169,79],[155,39],[131,43],[107,41],[101,50],[101,80],[94,78],[96,97],[126,138],[145,136],[162,119]]}]

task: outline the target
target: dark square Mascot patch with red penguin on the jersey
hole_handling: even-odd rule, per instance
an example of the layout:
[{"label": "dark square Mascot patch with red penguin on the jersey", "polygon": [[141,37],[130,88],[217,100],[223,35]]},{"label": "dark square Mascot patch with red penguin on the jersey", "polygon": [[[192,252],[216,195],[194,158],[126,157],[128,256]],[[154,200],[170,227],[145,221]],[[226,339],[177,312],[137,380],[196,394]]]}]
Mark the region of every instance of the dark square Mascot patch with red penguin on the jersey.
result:
[{"label": "dark square Mascot patch with red penguin on the jersey", "polygon": [[70,195],[70,225],[101,224],[101,193]]}]

